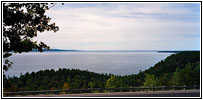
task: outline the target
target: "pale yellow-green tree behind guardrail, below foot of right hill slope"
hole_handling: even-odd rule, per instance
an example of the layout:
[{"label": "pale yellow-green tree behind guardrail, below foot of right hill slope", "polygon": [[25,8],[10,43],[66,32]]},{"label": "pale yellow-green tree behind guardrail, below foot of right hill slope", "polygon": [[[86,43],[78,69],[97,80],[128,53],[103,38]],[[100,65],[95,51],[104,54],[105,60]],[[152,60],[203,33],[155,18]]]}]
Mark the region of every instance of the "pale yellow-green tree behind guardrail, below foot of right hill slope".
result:
[{"label": "pale yellow-green tree behind guardrail, below foot of right hill slope", "polygon": [[157,85],[157,78],[154,75],[146,74],[144,86],[156,86]]}]

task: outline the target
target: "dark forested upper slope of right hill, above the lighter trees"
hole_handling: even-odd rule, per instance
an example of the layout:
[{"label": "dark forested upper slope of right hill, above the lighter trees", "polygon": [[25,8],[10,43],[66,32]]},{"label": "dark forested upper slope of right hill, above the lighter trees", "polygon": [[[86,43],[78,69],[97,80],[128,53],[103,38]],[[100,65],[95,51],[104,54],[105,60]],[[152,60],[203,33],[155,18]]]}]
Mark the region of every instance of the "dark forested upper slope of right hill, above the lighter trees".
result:
[{"label": "dark forested upper slope of right hill, above the lighter trees", "polygon": [[144,71],[144,73],[153,74],[156,77],[161,77],[166,73],[172,74],[173,72],[176,71],[177,67],[179,67],[180,69],[183,69],[188,63],[198,64],[199,62],[200,62],[199,51],[180,52],[177,54],[172,54],[171,56],[167,57],[165,60],[158,62],[153,67]]}]

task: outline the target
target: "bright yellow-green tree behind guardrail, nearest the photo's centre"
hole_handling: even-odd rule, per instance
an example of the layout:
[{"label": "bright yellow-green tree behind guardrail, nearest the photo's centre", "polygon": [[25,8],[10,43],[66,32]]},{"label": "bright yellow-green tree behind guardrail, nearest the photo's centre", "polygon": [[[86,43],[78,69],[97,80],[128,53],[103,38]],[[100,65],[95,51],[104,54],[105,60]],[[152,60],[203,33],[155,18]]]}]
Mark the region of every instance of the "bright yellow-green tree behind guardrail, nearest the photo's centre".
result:
[{"label": "bright yellow-green tree behind guardrail, nearest the photo's centre", "polygon": [[106,81],[106,88],[117,88],[119,87],[119,80],[114,75],[111,75],[110,78]]}]

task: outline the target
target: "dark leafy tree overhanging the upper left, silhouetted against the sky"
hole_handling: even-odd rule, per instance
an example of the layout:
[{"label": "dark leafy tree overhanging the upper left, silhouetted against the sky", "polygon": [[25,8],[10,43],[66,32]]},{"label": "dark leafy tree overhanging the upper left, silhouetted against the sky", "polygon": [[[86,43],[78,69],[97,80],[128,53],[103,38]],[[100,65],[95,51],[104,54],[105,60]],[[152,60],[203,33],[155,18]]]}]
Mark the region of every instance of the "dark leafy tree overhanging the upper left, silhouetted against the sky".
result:
[{"label": "dark leafy tree overhanging the upper left, silhouetted against the sky", "polygon": [[[49,49],[45,43],[33,40],[39,32],[59,30],[45,15],[48,9],[48,3],[3,3],[4,58],[11,56],[12,51],[21,53],[32,49]],[[11,64],[7,60],[3,69],[7,71]]]}]

